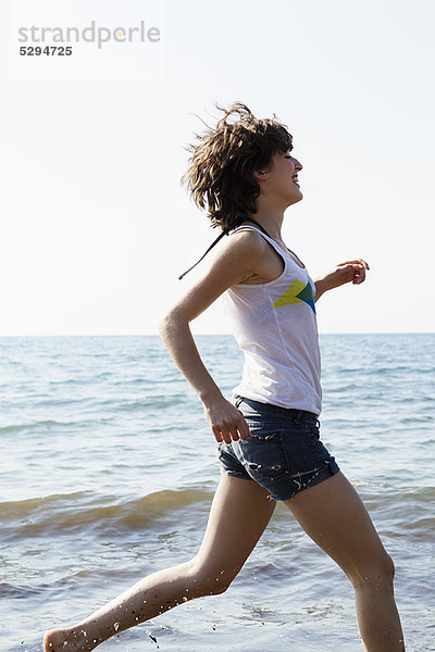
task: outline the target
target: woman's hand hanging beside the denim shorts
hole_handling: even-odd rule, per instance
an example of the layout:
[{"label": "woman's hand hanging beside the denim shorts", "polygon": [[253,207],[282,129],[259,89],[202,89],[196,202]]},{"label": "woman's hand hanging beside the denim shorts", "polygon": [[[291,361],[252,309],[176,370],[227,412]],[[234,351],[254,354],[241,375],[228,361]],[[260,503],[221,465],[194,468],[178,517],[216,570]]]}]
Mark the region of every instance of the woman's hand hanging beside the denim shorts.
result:
[{"label": "woman's hand hanging beside the denim shorts", "polygon": [[206,418],[217,442],[231,443],[232,440],[249,439],[251,434],[245,417],[233,403],[223,397],[202,402]]}]

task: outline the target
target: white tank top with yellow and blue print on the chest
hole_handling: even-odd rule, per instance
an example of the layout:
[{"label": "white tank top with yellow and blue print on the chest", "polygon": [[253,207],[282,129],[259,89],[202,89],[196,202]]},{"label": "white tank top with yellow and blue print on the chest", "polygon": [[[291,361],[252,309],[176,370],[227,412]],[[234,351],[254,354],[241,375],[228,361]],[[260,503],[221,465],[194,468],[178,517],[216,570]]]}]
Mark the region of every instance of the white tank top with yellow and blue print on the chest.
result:
[{"label": "white tank top with yellow and blue print on the chest", "polygon": [[[284,261],[269,283],[238,284],[226,291],[226,309],[245,364],[235,394],[281,408],[322,409],[315,286],[302,263],[253,226]],[[233,233],[237,233],[236,229]]]}]

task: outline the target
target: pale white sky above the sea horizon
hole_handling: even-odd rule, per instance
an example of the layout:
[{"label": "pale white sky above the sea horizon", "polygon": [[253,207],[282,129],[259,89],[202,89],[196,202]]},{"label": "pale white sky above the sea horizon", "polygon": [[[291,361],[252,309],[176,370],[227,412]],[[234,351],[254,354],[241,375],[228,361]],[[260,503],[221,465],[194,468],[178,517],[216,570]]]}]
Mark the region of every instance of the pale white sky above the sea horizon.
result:
[{"label": "pale white sky above the sea horizon", "polygon": [[[352,258],[371,266],[362,286],[322,297],[320,331],[434,331],[432,0],[0,11],[0,336],[158,331],[201,271],[178,274],[216,235],[179,185],[185,148],[233,101],[294,136],[304,198],[283,235],[311,276]],[[92,21],[119,36],[142,22],[159,40],[135,41],[137,29],[132,42],[71,42],[71,57],[20,55],[47,45],[18,41],[20,27]],[[227,331],[219,302],[192,329]]]}]

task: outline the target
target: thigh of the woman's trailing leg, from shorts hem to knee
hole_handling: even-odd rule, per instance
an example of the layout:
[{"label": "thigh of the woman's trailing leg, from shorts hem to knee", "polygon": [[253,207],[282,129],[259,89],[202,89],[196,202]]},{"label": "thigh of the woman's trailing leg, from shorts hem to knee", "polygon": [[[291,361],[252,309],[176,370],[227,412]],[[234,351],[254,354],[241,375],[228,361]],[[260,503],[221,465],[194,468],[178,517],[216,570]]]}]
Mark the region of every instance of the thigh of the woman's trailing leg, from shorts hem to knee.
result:
[{"label": "thigh of the woman's trailing leg, from shorts hem to knee", "polygon": [[252,480],[222,474],[196,566],[235,577],[266,527],[275,501]]}]

